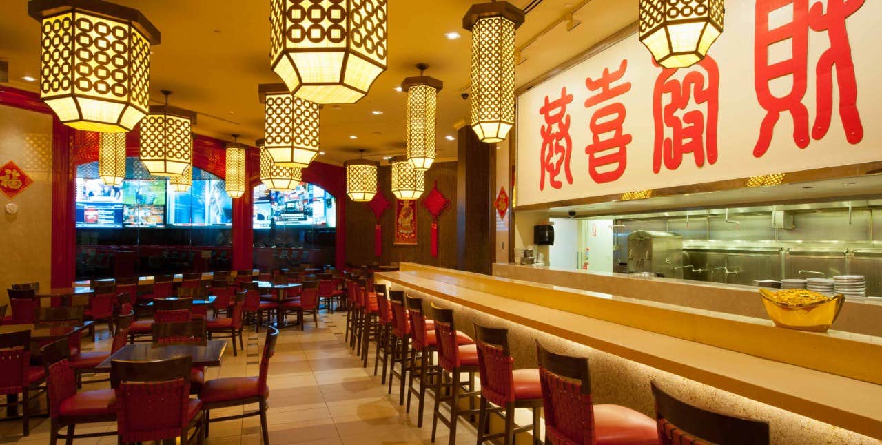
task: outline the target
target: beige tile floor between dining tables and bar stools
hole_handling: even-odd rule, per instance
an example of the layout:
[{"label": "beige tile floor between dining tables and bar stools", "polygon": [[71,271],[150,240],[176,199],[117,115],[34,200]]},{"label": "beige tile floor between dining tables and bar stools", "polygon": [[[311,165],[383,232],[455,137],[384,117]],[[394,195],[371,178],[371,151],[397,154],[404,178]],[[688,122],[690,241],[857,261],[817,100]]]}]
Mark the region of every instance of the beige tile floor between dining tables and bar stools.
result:
[{"label": "beige tile floor between dining tables and bar stools", "polygon": [[[348,343],[343,341],[346,315],[319,316],[318,328],[311,320],[306,330],[288,328],[281,331],[276,354],[270,365],[270,409],[268,423],[270,442],[322,444],[411,444],[430,443],[432,412],[431,397],[426,397],[426,413],[422,428],[416,427],[416,410],[410,414],[398,405],[398,384],[392,395],[380,378],[373,376],[373,349],[370,366],[363,368]],[[228,348],[221,367],[209,368],[207,379],[258,375],[260,348],[264,330],[259,334],[246,330],[247,353],[233,357]],[[84,349],[94,345],[110,347],[107,330],[99,330],[99,340],[84,341]],[[86,377],[88,379],[89,377]],[[107,388],[109,383],[86,383],[84,389]],[[253,410],[247,406],[245,409]],[[215,410],[217,416],[242,412],[242,408]],[[79,426],[78,433],[114,431],[115,423]],[[475,428],[460,421],[457,443],[475,443]],[[436,443],[449,441],[447,428],[439,422]],[[20,420],[0,420],[0,443],[45,444],[49,442],[49,420],[31,421],[31,434],[21,437]],[[116,436],[80,439],[76,445],[116,443]],[[247,419],[213,423],[208,444],[239,445],[260,443],[260,421]]]}]

